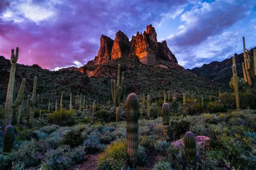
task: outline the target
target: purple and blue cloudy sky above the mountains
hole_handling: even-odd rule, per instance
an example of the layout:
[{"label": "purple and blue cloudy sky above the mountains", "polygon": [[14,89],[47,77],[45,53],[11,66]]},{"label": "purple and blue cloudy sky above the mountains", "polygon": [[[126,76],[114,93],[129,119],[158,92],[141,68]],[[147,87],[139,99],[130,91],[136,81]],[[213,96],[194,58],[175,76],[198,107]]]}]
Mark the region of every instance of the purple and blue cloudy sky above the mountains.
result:
[{"label": "purple and blue cloudy sky above the mountains", "polygon": [[130,39],[152,24],[187,68],[256,46],[255,0],[0,0],[0,56],[19,47],[18,63],[58,70],[95,58],[100,36]]}]

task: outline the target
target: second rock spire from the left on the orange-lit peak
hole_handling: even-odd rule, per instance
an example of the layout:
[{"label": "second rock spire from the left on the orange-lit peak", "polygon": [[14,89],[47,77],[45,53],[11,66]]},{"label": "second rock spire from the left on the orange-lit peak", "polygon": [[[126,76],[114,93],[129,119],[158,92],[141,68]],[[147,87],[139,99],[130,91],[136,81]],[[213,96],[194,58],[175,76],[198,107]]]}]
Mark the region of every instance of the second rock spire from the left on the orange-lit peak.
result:
[{"label": "second rock spire from the left on the orange-lit peak", "polygon": [[111,52],[111,59],[117,59],[123,56],[128,56],[130,52],[129,38],[122,31],[116,33]]}]

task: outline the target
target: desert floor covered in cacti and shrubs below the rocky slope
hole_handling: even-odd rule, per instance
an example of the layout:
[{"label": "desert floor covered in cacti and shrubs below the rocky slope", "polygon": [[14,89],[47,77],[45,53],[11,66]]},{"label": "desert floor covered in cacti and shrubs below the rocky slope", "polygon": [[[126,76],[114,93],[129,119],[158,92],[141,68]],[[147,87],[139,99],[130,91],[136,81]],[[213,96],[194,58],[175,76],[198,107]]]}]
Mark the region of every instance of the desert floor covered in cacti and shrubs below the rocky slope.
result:
[{"label": "desert floor covered in cacti and shrubs below the rocky slope", "polygon": [[[163,72],[156,79],[133,79],[117,64],[116,77],[104,80],[105,86],[91,78],[93,95],[80,86],[51,86],[59,97],[40,94],[46,85],[38,85],[37,76],[30,89],[23,78],[17,92],[19,49],[11,50],[0,107],[0,169],[254,169],[256,50],[251,55],[243,42],[244,78],[234,56],[231,89],[202,85],[201,79],[193,86],[184,79],[146,88]],[[131,79],[145,88],[139,91]]]}]

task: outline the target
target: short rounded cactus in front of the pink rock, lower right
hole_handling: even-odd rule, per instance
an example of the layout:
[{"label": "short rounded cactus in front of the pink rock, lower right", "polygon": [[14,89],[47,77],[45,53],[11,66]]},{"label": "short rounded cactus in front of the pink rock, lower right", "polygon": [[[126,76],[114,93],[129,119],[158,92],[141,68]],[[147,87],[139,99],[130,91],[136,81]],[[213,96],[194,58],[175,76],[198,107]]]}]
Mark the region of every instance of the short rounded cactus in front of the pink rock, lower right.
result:
[{"label": "short rounded cactus in front of the pink rock, lower right", "polygon": [[196,137],[194,136],[194,133],[190,131],[186,132],[186,134],[184,135],[184,145],[185,145],[187,162],[189,164],[195,164],[197,145],[196,145]]}]

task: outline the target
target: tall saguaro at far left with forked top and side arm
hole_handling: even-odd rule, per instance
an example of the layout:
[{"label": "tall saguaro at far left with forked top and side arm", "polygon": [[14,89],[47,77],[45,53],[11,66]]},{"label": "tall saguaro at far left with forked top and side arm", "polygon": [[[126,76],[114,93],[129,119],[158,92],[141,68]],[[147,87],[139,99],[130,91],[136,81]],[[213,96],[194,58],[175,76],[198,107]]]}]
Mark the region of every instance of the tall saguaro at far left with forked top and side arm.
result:
[{"label": "tall saguaro at far left with forked top and side arm", "polygon": [[14,49],[11,49],[11,70],[10,70],[10,78],[8,84],[8,90],[6,94],[5,100],[5,114],[4,114],[4,121],[6,125],[10,125],[12,121],[12,114],[14,112],[14,107],[17,107],[22,102],[22,97],[24,93],[24,87],[26,83],[26,79],[22,79],[21,87],[19,87],[19,92],[17,99],[14,103],[14,87],[15,87],[15,72],[16,72],[16,63],[19,56],[19,48],[16,48],[16,53],[14,53]]}]

